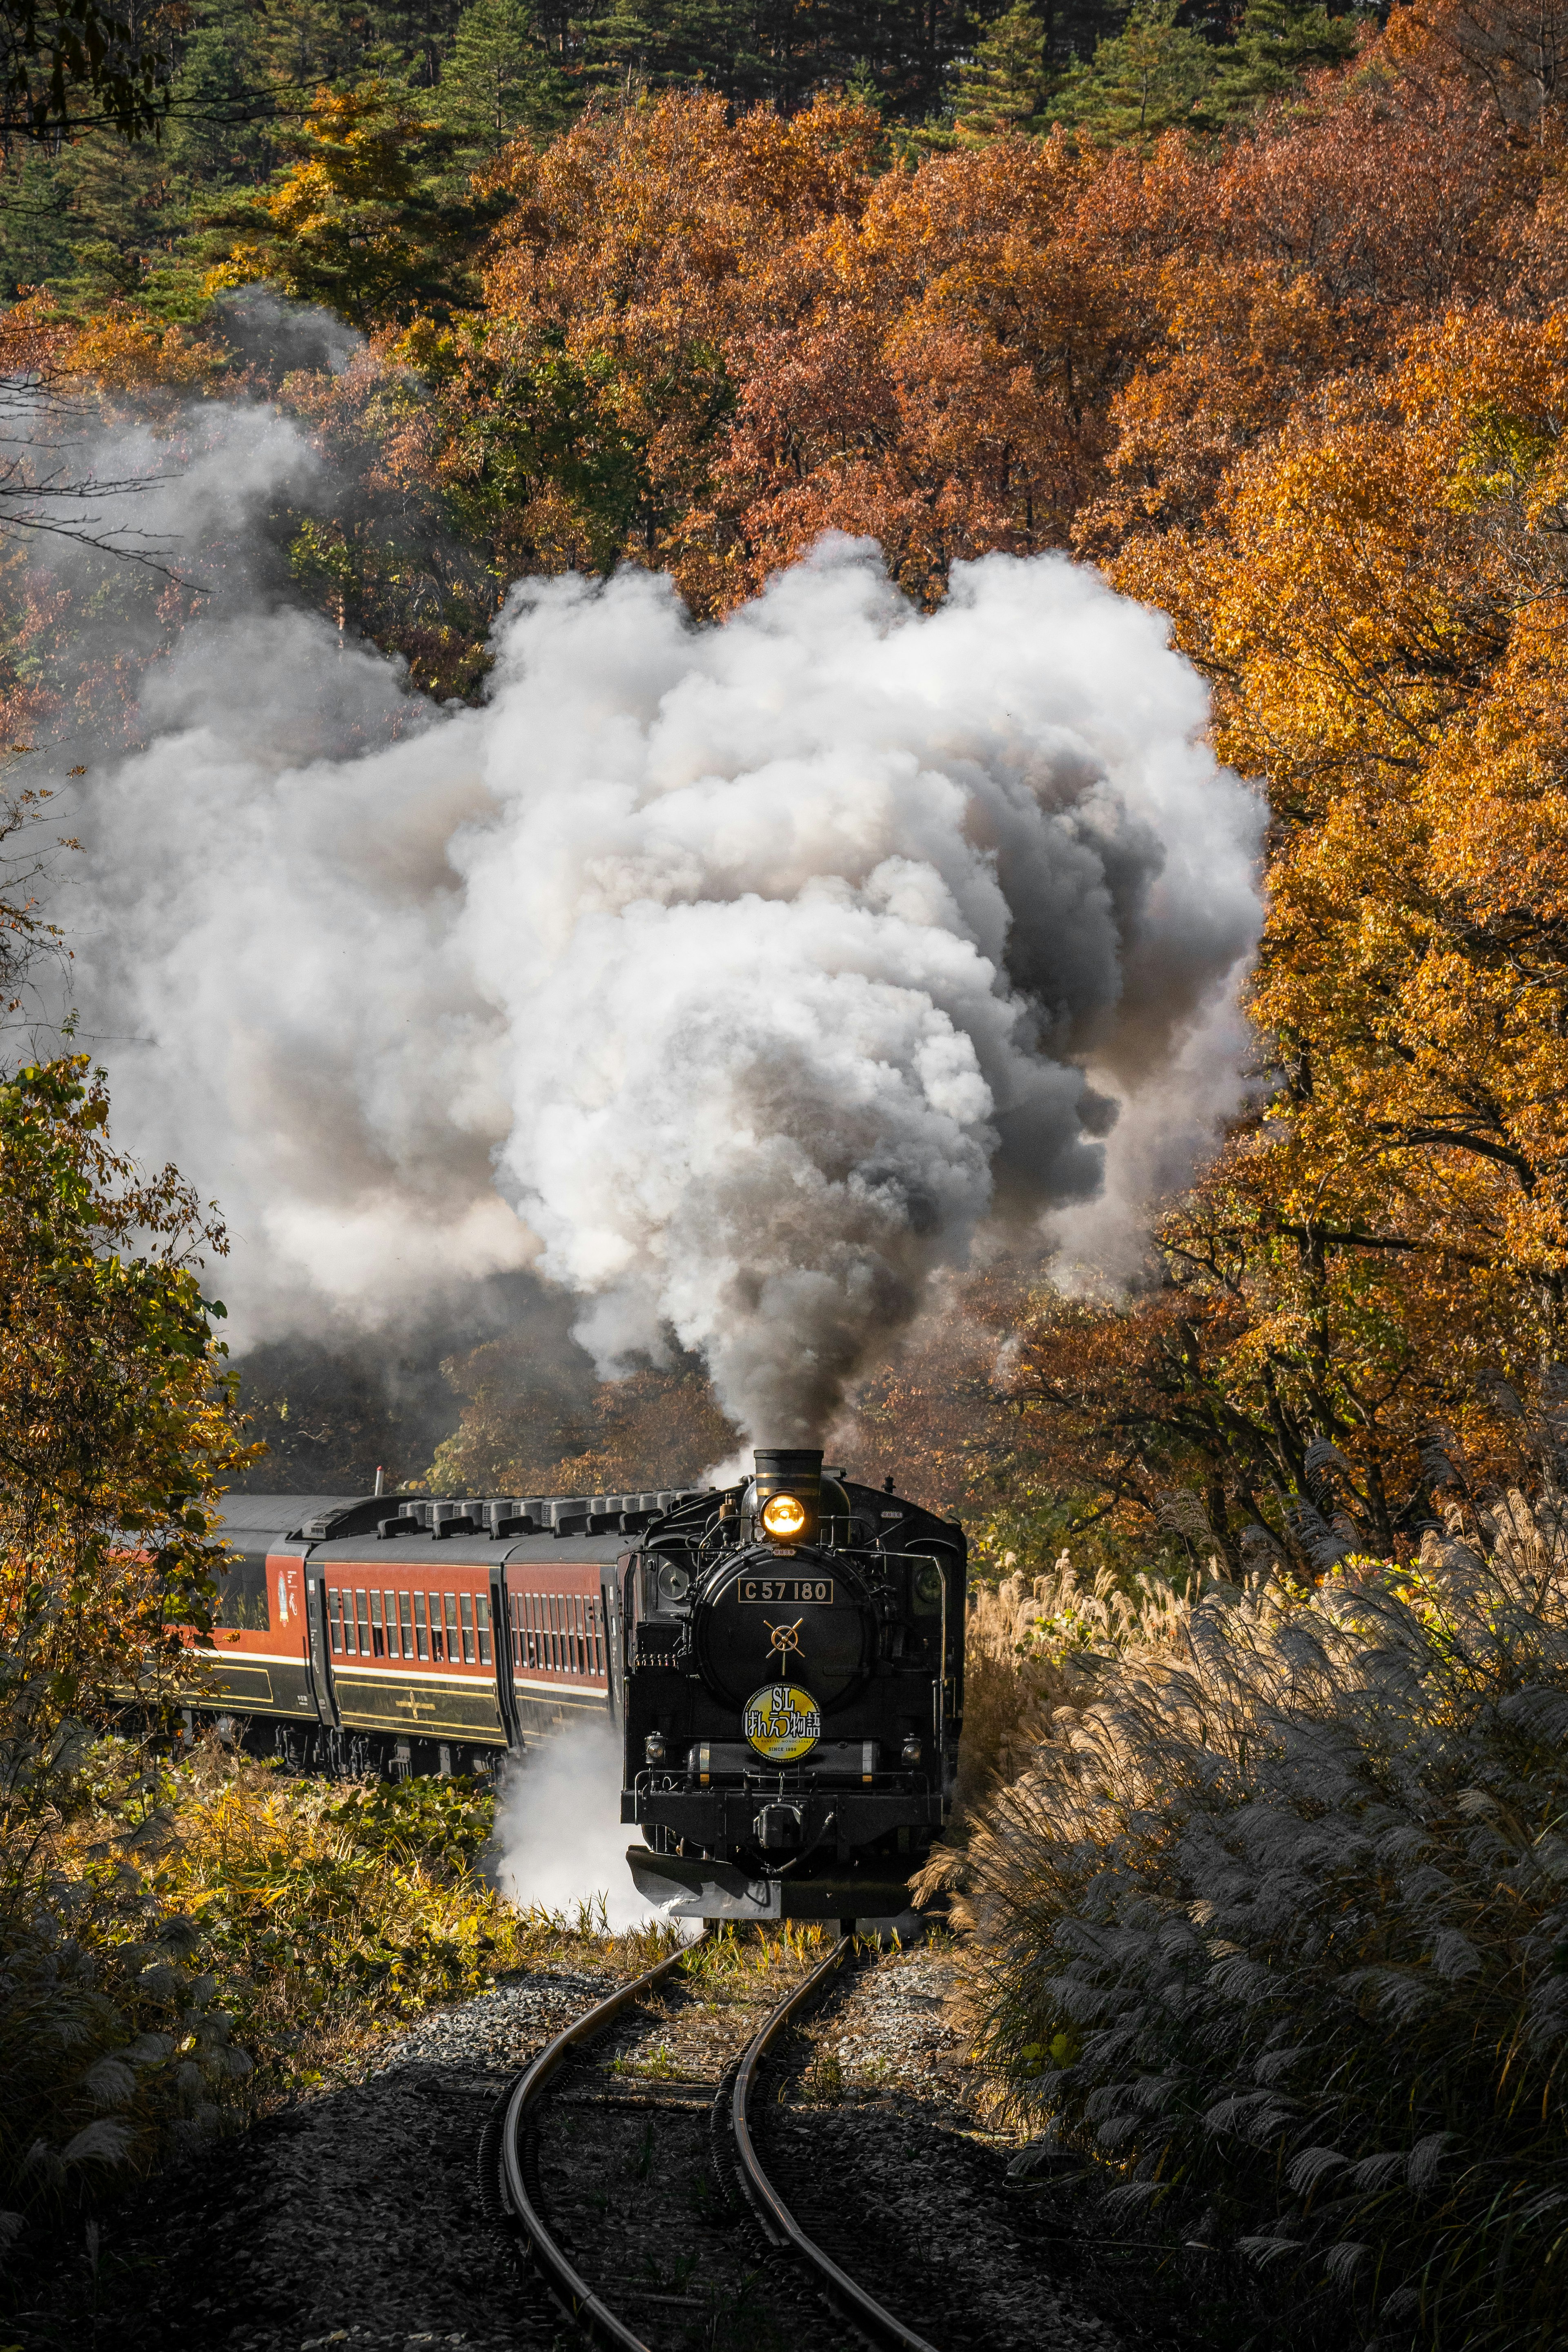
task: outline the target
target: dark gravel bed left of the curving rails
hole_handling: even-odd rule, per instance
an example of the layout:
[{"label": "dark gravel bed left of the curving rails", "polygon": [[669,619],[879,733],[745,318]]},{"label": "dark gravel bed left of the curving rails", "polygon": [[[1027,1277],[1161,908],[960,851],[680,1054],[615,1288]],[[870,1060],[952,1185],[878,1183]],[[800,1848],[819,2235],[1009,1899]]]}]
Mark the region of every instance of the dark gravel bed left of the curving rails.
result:
[{"label": "dark gravel bed left of the curving rails", "polygon": [[475,2147],[510,2074],[609,1990],[555,1969],[418,2018],[364,2077],[212,2143],[101,2227],[26,2352],[555,2352],[555,2312],[480,2211]]}]

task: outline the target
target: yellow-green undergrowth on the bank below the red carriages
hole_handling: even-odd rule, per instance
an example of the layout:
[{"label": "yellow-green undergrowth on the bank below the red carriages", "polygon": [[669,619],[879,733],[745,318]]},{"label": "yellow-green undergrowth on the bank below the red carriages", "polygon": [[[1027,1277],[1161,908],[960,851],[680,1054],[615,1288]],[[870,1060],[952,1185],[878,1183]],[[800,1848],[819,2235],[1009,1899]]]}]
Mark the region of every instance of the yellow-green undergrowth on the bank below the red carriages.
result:
[{"label": "yellow-green undergrowth on the bank below the red carriages", "polygon": [[54,1799],[0,1858],[7,2246],[496,1971],[668,1947],[496,1896],[473,1780],[284,1780],[212,1738],[99,1738],[56,1757]]}]

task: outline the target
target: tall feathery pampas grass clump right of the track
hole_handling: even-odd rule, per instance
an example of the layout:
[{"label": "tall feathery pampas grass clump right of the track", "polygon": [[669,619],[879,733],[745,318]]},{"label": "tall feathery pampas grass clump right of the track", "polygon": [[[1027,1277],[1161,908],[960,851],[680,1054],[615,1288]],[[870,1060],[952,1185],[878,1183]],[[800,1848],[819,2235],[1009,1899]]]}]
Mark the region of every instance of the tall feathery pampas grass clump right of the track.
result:
[{"label": "tall feathery pampas grass clump right of the track", "polygon": [[1107,2234],[1302,2340],[1523,2352],[1568,2326],[1568,1505],[1446,1519],[1316,1588],[987,1595],[959,1910],[1030,2161]]}]

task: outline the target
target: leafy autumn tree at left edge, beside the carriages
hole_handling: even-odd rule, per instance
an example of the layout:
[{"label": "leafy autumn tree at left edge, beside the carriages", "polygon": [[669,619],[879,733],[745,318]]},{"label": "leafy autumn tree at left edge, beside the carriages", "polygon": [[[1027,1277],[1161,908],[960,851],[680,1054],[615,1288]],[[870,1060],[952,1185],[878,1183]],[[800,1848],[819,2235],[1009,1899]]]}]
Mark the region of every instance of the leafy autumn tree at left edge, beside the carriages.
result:
[{"label": "leafy autumn tree at left edge, beside the carriages", "polygon": [[216,1494],[249,1461],[172,1169],[106,1141],[82,1056],[0,1084],[0,1705],[7,1743],[183,1672],[212,1623]]}]

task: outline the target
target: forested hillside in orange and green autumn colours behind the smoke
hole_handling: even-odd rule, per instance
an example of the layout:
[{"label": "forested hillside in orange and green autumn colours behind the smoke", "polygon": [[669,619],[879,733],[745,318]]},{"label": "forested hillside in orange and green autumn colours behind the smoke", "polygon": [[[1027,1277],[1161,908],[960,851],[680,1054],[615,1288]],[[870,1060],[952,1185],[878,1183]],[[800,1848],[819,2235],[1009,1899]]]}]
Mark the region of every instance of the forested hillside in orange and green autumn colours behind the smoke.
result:
[{"label": "forested hillside in orange and green autumn colours behind the smoke", "polygon": [[[214,395],[277,402],[339,485],[270,517],[289,593],[411,684],[482,696],[536,574],[654,567],[701,616],[825,529],[926,604],[959,560],[1063,548],[1171,616],[1267,795],[1251,1115],[1147,1202],[1138,1265],[954,1291],[846,1444],[999,1510],[997,1557],[1077,1531],[1239,1573],[1248,1545],[1410,1541],[1443,1446],[1500,1465],[1556,1411],[1568,242],[1540,12],[150,24],[129,146],[75,82],[28,136],[12,78],[5,360],[169,449]],[[324,322],[308,365],[275,294]],[[75,616],[26,534],[0,562],[24,743]],[[179,628],[176,586],[158,612]],[[637,1484],[722,1437],[691,1364],[543,1397],[501,1338],[447,1381],[444,1484]],[[287,1385],[254,1399],[284,1451]],[[376,1411],[343,1404],[360,1451]]]}]

